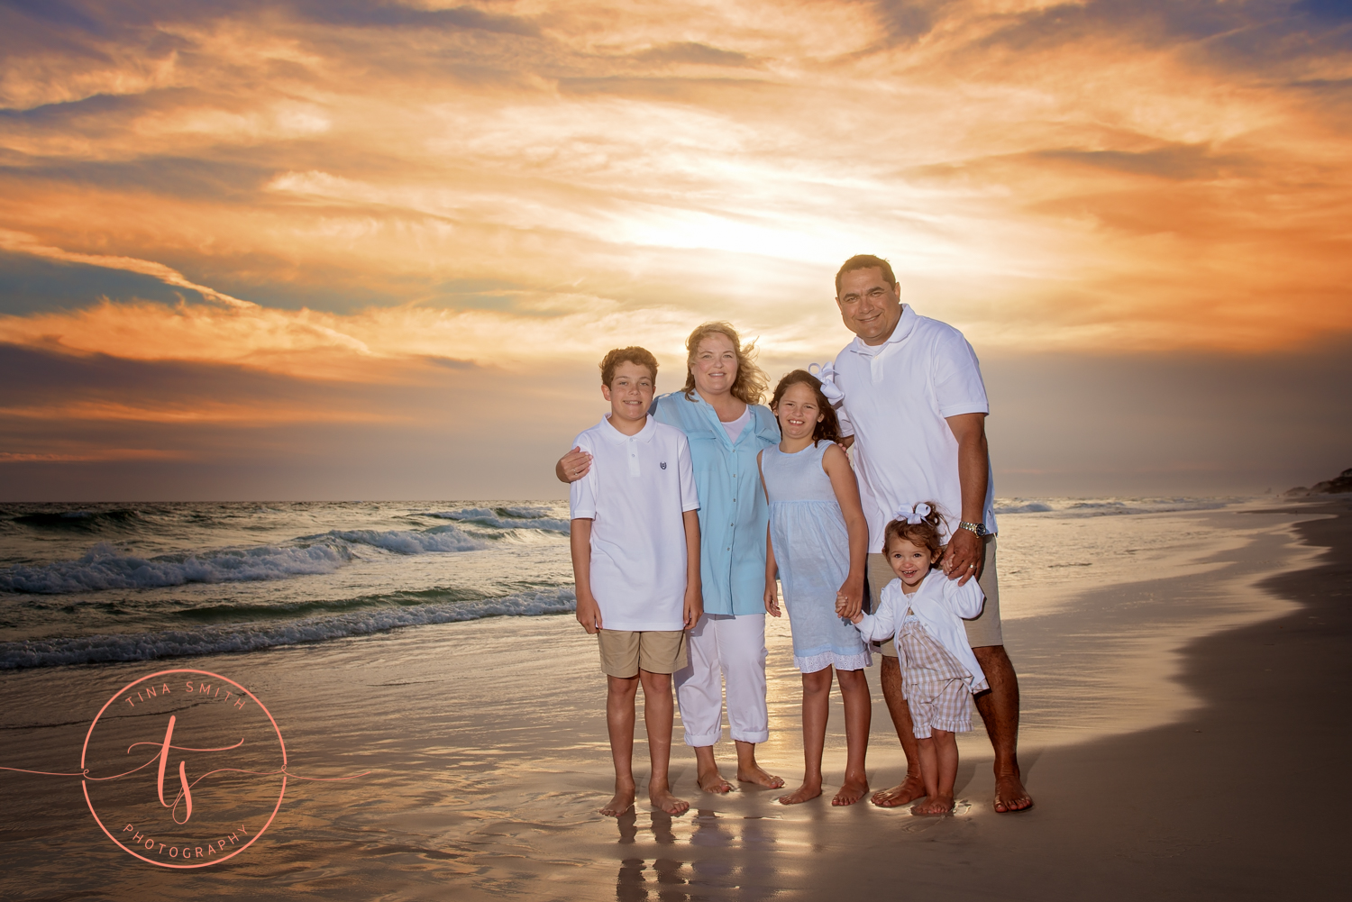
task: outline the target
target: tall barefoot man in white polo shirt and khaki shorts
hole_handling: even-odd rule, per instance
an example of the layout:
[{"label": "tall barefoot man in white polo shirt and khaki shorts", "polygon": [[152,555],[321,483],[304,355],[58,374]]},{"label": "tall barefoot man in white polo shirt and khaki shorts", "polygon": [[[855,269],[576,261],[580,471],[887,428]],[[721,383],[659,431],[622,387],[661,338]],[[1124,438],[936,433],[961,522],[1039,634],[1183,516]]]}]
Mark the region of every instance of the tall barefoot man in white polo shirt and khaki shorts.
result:
[{"label": "tall barefoot man in white polo shirt and khaki shorts", "polygon": [[[883,527],[902,507],[937,502],[948,519],[944,572],[986,594],[980,617],[967,621],[968,641],[990,682],[976,709],[995,748],[995,810],[1021,811],[1033,799],[1018,769],[1018,676],[1000,636],[995,572],[995,513],[986,445],[986,385],[972,346],[946,323],[919,316],[898,296],[886,260],[850,257],[836,273],[836,304],[853,342],[836,357],[844,392],[841,431],[854,444],[860,495],[869,521],[869,590],[876,610],[892,579],[882,554]],[[846,422],[848,421],[848,422]],[[850,435],[850,433],[853,433]],[[906,752],[906,779],[875,792],[894,807],[925,795],[902,671],[891,644],[883,657],[883,696]]]}]

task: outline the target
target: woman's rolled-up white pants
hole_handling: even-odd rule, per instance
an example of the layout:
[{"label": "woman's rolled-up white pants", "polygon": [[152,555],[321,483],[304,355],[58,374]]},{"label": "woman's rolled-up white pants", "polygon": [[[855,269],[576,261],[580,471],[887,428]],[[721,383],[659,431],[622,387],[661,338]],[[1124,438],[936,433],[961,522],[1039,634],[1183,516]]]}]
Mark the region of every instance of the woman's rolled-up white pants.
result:
[{"label": "woman's rolled-up white pants", "polygon": [[685,745],[714,745],[727,725],[740,742],[769,740],[765,707],[765,614],[704,614],[690,632],[690,663],[676,671],[676,702]]}]

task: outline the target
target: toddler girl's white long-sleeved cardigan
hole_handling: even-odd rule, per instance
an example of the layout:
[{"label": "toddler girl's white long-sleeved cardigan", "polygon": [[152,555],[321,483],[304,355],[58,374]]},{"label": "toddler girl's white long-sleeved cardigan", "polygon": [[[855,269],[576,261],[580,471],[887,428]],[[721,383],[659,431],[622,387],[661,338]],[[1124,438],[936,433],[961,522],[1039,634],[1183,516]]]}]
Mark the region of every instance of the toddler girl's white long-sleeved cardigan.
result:
[{"label": "toddler girl's white long-sleeved cardigan", "polygon": [[[967,668],[971,680],[967,688],[986,682],[982,665],[972,655],[972,646],[967,642],[967,629],[963,618],[972,619],[980,615],[986,604],[986,595],[976,584],[976,577],[967,580],[965,586],[959,586],[956,579],[949,579],[941,569],[932,569],[914,594],[902,591],[902,580],[894,579],[883,587],[883,598],[876,614],[864,614],[856,626],[865,640],[882,641],[890,638],[896,642],[906,610],[910,609],[917,619],[925,626],[925,632],[934,637],[948,653],[957,659],[957,663]],[[896,653],[902,653],[900,644]]]}]

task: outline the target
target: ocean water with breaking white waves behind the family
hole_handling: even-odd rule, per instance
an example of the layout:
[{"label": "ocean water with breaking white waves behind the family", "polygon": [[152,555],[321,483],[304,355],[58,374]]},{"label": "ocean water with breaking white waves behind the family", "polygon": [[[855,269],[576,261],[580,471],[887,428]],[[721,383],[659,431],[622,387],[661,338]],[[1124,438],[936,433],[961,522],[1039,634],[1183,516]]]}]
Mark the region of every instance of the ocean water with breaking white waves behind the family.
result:
[{"label": "ocean water with breaking white waves behind the family", "polygon": [[[1241,498],[1002,499],[1005,617],[1195,565]],[[1145,521],[1142,521],[1145,522]],[[1125,522],[1122,523],[1125,526]],[[564,502],[0,504],[0,669],[337,642],[575,607]]]}]

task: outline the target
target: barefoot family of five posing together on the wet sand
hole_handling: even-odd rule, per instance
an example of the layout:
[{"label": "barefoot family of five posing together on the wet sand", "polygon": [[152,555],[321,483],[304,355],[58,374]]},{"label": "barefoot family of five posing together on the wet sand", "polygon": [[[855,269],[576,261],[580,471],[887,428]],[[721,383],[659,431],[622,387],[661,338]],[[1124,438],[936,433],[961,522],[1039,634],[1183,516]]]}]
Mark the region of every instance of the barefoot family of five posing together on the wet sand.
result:
[{"label": "barefoot family of five posing together on the wet sand", "polygon": [[[731,325],[687,341],[681,391],[657,396],[657,360],[619,348],[600,365],[610,412],[556,468],[571,483],[577,619],[598,636],[615,795],[634,802],[635,698],[644,688],[653,806],[680,814],[668,776],[675,684],[699,788],[733,790],[714,745],[727,722],[737,780],[784,780],[756,760],[769,738],[765,615],[788,609],[803,679],[806,772],[792,805],[822,792],[831,675],[848,759],[833,805],[868,794],[872,699],[906,753],[900,784],[873,805],[953,810],[955,733],[971,699],[995,751],[996,811],[1033,805],[1017,759],[1018,679],[1005,653],[996,583],[990,407],[971,345],[900,302],[891,265],[845,261],[836,303],[856,338],[833,364],[769,388]],[[817,369],[817,372],[810,372]],[[850,460],[850,453],[853,460]]]}]

